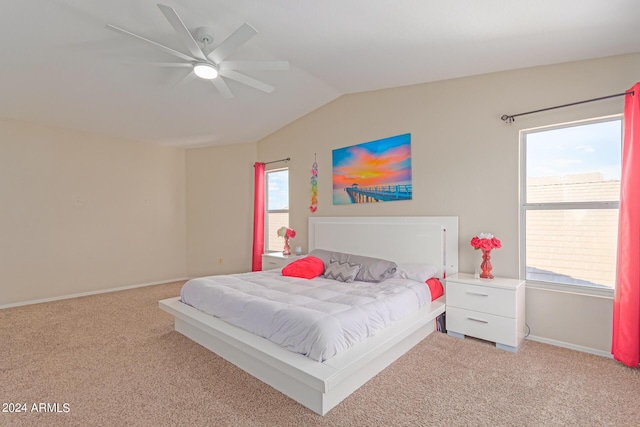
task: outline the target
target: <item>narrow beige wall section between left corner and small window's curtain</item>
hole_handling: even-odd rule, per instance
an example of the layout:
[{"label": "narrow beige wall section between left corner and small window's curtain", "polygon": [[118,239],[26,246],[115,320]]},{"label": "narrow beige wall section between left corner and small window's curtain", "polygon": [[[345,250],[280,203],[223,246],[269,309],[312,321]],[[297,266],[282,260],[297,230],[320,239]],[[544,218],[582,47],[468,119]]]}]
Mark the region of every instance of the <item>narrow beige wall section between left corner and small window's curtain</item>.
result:
[{"label": "narrow beige wall section between left corner and small window's curtain", "polygon": [[190,277],[251,271],[256,144],[188,149]]}]

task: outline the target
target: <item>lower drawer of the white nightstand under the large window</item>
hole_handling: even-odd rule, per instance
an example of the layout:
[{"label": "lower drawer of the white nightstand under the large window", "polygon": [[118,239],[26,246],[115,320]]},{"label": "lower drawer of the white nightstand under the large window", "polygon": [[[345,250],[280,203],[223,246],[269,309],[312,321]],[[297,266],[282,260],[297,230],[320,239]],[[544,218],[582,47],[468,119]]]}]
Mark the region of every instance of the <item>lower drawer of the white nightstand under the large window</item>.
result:
[{"label": "lower drawer of the white nightstand under the large window", "polygon": [[511,347],[518,346],[516,319],[447,306],[447,330]]}]

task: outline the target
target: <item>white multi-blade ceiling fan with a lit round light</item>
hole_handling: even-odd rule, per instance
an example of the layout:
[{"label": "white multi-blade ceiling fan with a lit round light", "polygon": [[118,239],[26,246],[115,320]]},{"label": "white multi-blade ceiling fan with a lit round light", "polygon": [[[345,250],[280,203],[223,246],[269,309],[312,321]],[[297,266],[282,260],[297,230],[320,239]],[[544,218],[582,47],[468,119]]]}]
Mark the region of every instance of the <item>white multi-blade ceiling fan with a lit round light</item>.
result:
[{"label": "white multi-blade ceiling fan with a lit round light", "polygon": [[[289,61],[226,61],[236,49],[246,43],[258,32],[249,24],[242,24],[229,37],[224,39],[218,46],[211,47],[213,33],[208,28],[197,28],[192,34],[184,25],[178,13],[169,6],[158,4],[160,11],[169,21],[173,29],[178,33],[178,37],[189,50],[191,55],[178,52],[170,47],[156,43],[145,37],[134,34],[115,25],[107,24],[107,28],[126,36],[142,40],[163,52],[169,53],[185,62],[159,63],[156,65],[165,67],[190,67],[191,72],[185,79],[199,77],[209,80],[218,89],[220,94],[229,99],[233,98],[233,93],[224,79],[234,80],[238,83],[250,86],[254,89],[271,93],[275,89],[273,86],[242,74],[239,71],[245,70],[288,70]],[[203,47],[200,47],[200,42]]]}]

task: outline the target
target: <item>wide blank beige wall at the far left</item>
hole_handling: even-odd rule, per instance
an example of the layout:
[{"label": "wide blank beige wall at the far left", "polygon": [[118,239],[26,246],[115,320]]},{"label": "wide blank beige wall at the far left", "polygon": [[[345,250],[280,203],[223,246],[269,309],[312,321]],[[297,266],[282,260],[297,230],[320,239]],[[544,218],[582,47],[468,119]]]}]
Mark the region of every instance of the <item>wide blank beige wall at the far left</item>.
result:
[{"label": "wide blank beige wall at the far left", "polygon": [[0,306],[186,276],[184,150],[0,120]]}]

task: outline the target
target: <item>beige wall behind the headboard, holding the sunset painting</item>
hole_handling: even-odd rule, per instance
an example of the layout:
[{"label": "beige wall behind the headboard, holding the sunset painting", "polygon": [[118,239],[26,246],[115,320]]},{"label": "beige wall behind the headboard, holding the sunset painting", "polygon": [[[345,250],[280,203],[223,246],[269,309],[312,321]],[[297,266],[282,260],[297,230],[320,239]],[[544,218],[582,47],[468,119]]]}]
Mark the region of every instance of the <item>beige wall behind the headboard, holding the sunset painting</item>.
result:
[{"label": "beige wall behind the headboard, holding the sunset painting", "polygon": [[[500,120],[572,101],[623,92],[640,78],[640,54],[460,78],[343,96],[258,143],[258,159],[291,157],[294,245],[306,247],[309,177],[319,165],[318,216],[457,215],[460,270],[473,272],[480,255],[468,244],[490,232],[502,240],[493,273],[519,275],[519,131],[622,112],[615,98]],[[331,151],[411,133],[414,199],[338,205],[331,198]],[[611,299],[529,289],[531,335],[609,351]]]}]

